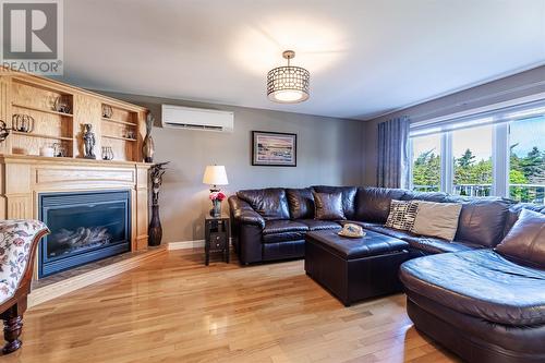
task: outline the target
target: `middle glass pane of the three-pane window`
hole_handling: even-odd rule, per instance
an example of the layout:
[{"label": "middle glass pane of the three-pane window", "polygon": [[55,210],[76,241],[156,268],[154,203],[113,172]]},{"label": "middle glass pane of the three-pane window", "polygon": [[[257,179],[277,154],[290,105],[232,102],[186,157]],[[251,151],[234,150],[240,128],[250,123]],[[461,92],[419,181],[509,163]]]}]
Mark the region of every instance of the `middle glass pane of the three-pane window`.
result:
[{"label": "middle glass pane of the three-pane window", "polygon": [[492,125],[452,132],[452,193],[487,196],[492,192]]}]

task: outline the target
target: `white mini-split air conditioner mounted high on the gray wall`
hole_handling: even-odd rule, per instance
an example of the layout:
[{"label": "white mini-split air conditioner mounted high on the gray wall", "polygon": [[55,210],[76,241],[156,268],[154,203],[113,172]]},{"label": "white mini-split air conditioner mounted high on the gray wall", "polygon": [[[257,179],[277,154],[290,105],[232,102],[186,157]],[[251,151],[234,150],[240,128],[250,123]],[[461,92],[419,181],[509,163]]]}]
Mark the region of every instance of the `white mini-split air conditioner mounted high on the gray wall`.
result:
[{"label": "white mini-split air conditioner mounted high on the gray wall", "polygon": [[164,128],[232,132],[234,113],[204,108],[162,105]]}]

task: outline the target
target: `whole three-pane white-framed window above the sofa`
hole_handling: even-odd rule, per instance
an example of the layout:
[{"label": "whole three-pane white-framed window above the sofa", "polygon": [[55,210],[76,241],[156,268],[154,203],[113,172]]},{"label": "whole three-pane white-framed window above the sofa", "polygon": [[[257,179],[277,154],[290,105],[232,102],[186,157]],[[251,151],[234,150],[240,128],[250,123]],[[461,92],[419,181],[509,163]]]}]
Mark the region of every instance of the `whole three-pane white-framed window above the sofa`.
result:
[{"label": "whole three-pane white-framed window above the sofa", "polygon": [[411,125],[412,187],[545,204],[545,104]]}]

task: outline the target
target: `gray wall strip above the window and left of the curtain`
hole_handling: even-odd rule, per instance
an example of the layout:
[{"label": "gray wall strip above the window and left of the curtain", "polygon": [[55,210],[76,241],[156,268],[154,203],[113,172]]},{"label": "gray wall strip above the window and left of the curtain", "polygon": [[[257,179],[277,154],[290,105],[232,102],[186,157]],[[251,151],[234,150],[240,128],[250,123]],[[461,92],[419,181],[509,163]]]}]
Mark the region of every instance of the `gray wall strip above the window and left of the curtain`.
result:
[{"label": "gray wall strip above the window and left of the curtain", "polygon": [[362,134],[362,140],[365,141],[364,184],[376,185],[377,182],[377,124],[379,122],[400,116],[408,116],[411,122],[417,122],[544,92],[545,66],[540,66],[365,122]]}]

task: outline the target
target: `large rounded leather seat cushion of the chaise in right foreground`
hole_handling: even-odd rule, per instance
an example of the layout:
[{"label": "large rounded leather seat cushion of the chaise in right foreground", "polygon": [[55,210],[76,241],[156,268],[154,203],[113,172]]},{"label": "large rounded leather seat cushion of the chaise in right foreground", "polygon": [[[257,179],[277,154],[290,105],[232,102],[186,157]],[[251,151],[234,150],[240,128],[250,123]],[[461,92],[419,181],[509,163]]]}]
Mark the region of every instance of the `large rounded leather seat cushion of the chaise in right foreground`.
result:
[{"label": "large rounded leather seat cushion of the chaise in right foreground", "polygon": [[545,324],[545,271],[492,250],[446,253],[405,262],[405,288],[462,314],[504,325]]}]

